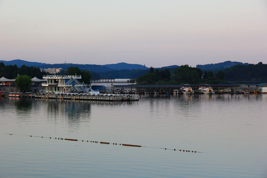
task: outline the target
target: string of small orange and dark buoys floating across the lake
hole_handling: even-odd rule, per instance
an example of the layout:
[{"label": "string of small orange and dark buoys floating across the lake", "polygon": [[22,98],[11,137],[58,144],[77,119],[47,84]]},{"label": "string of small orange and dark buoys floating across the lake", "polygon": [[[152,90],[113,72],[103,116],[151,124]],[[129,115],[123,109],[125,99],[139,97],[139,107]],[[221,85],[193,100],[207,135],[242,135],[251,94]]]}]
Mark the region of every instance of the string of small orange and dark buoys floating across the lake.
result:
[{"label": "string of small orange and dark buoys floating across the lake", "polygon": [[17,135],[17,136],[29,136],[29,137],[39,137],[39,138],[49,138],[49,139],[57,139],[57,140],[68,140],[68,141],[82,141],[82,142],[90,142],[90,143],[100,143],[100,144],[110,144],[110,145],[121,145],[121,146],[130,146],[130,147],[144,147],[144,148],[156,148],[156,149],[165,149],[165,150],[174,150],[174,151],[180,151],[180,152],[189,152],[189,153],[203,153],[200,151],[192,151],[192,150],[186,150],[186,149],[171,149],[171,148],[162,148],[162,147],[151,147],[151,146],[141,146],[141,145],[135,145],[135,144],[126,144],[126,143],[110,143],[105,141],[94,141],[94,140],[79,140],[79,139],[73,139],[73,138],[60,138],[60,137],[47,137],[47,136],[36,136],[36,135],[20,135],[20,134],[8,134],[8,135]]}]

